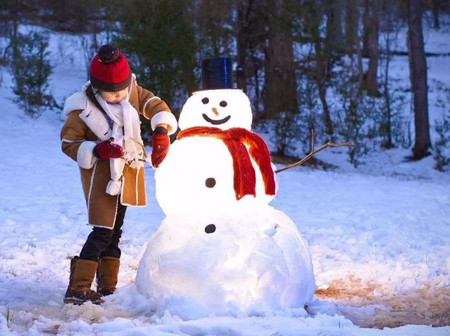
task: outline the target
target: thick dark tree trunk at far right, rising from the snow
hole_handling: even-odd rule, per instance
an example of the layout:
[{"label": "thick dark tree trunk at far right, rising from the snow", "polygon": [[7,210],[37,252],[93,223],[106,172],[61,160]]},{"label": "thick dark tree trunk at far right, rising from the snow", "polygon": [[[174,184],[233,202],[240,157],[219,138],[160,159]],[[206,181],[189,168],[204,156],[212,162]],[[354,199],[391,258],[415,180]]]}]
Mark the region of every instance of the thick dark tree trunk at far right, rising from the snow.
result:
[{"label": "thick dark tree trunk at far right, rising from the snow", "polygon": [[427,62],[422,32],[421,0],[407,0],[408,56],[414,106],[415,144],[413,159],[429,155],[431,147],[428,121]]}]

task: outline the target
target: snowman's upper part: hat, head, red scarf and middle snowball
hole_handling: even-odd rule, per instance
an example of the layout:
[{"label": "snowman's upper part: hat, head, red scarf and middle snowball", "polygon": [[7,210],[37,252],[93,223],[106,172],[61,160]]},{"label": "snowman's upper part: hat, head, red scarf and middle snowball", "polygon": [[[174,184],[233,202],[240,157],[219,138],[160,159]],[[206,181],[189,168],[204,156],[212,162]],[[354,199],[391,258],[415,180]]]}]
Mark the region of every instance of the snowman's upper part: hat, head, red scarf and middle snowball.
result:
[{"label": "snowman's upper part: hat, head, red scarf and middle snowball", "polygon": [[250,130],[250,101],[231,88],[230,59],[207,59],[202,69],[204,90],[183,106],[181,131],[155,171],[156,198],[166,215],[268,204],[276,193],[267,145]]}]

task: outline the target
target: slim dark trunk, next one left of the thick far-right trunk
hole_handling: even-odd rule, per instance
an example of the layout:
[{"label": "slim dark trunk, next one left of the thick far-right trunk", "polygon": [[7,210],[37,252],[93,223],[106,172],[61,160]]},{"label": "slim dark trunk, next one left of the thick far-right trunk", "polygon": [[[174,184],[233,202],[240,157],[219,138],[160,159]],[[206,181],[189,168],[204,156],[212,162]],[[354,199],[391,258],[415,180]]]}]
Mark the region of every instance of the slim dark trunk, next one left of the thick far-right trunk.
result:
[{"label": "slim dark trunk, next one left of the thick far-right trunk", "polygon": [[[369,0],[366,0],[369,2]],[[378,33],[379,33],[379,0],[370,0],[369,23],[367,24],[367,56],[369,57],[369,67],[366,75],[366,88],[369,96],[378,96],[378,61],[380,52],[378,49]],[[366,26],[366,24],[365,24]]]}]

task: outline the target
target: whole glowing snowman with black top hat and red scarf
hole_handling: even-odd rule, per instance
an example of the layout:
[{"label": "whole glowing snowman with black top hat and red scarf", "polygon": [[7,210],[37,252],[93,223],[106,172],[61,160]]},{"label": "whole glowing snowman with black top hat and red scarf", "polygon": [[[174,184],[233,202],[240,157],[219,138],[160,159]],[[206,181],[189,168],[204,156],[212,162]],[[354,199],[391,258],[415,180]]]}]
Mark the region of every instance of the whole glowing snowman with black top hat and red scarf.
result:
[{"label": "whole glowing snowman with black top hat and red scarf", "polygon": [[205,316],[303,308],[315,290],[311,256],[295,223],[268,205],[275,177],[267,145],[250,131],[248,97],[229,87],[229,59],[202,66],[206,89],[184,105],[181,131],[155,171],[167,217],[136,287],[158,306]]}]

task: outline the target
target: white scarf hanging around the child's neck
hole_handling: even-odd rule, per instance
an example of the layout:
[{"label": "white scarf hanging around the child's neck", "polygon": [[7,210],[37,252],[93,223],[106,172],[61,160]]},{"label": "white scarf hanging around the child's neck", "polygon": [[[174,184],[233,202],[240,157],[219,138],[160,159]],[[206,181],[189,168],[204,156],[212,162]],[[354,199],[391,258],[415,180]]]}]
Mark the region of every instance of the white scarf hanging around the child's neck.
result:
[{"label": "white scarf hanging around the child's neck", "polygon": [[142,161],[140,161],[144,159],[141,123],[139,113],[128,101],[129,92],[126,99],[122,99],[118,104],[109,104],[100,94],[96,94],[96,98],[105,113],[113,121],[113,142],[122,146],[125,152],[123,158],[109,159],[111,181],[106,187],[106,193],[115,196],[122,191],[122,175],[125,163],[135,169],[143,166]]}]

